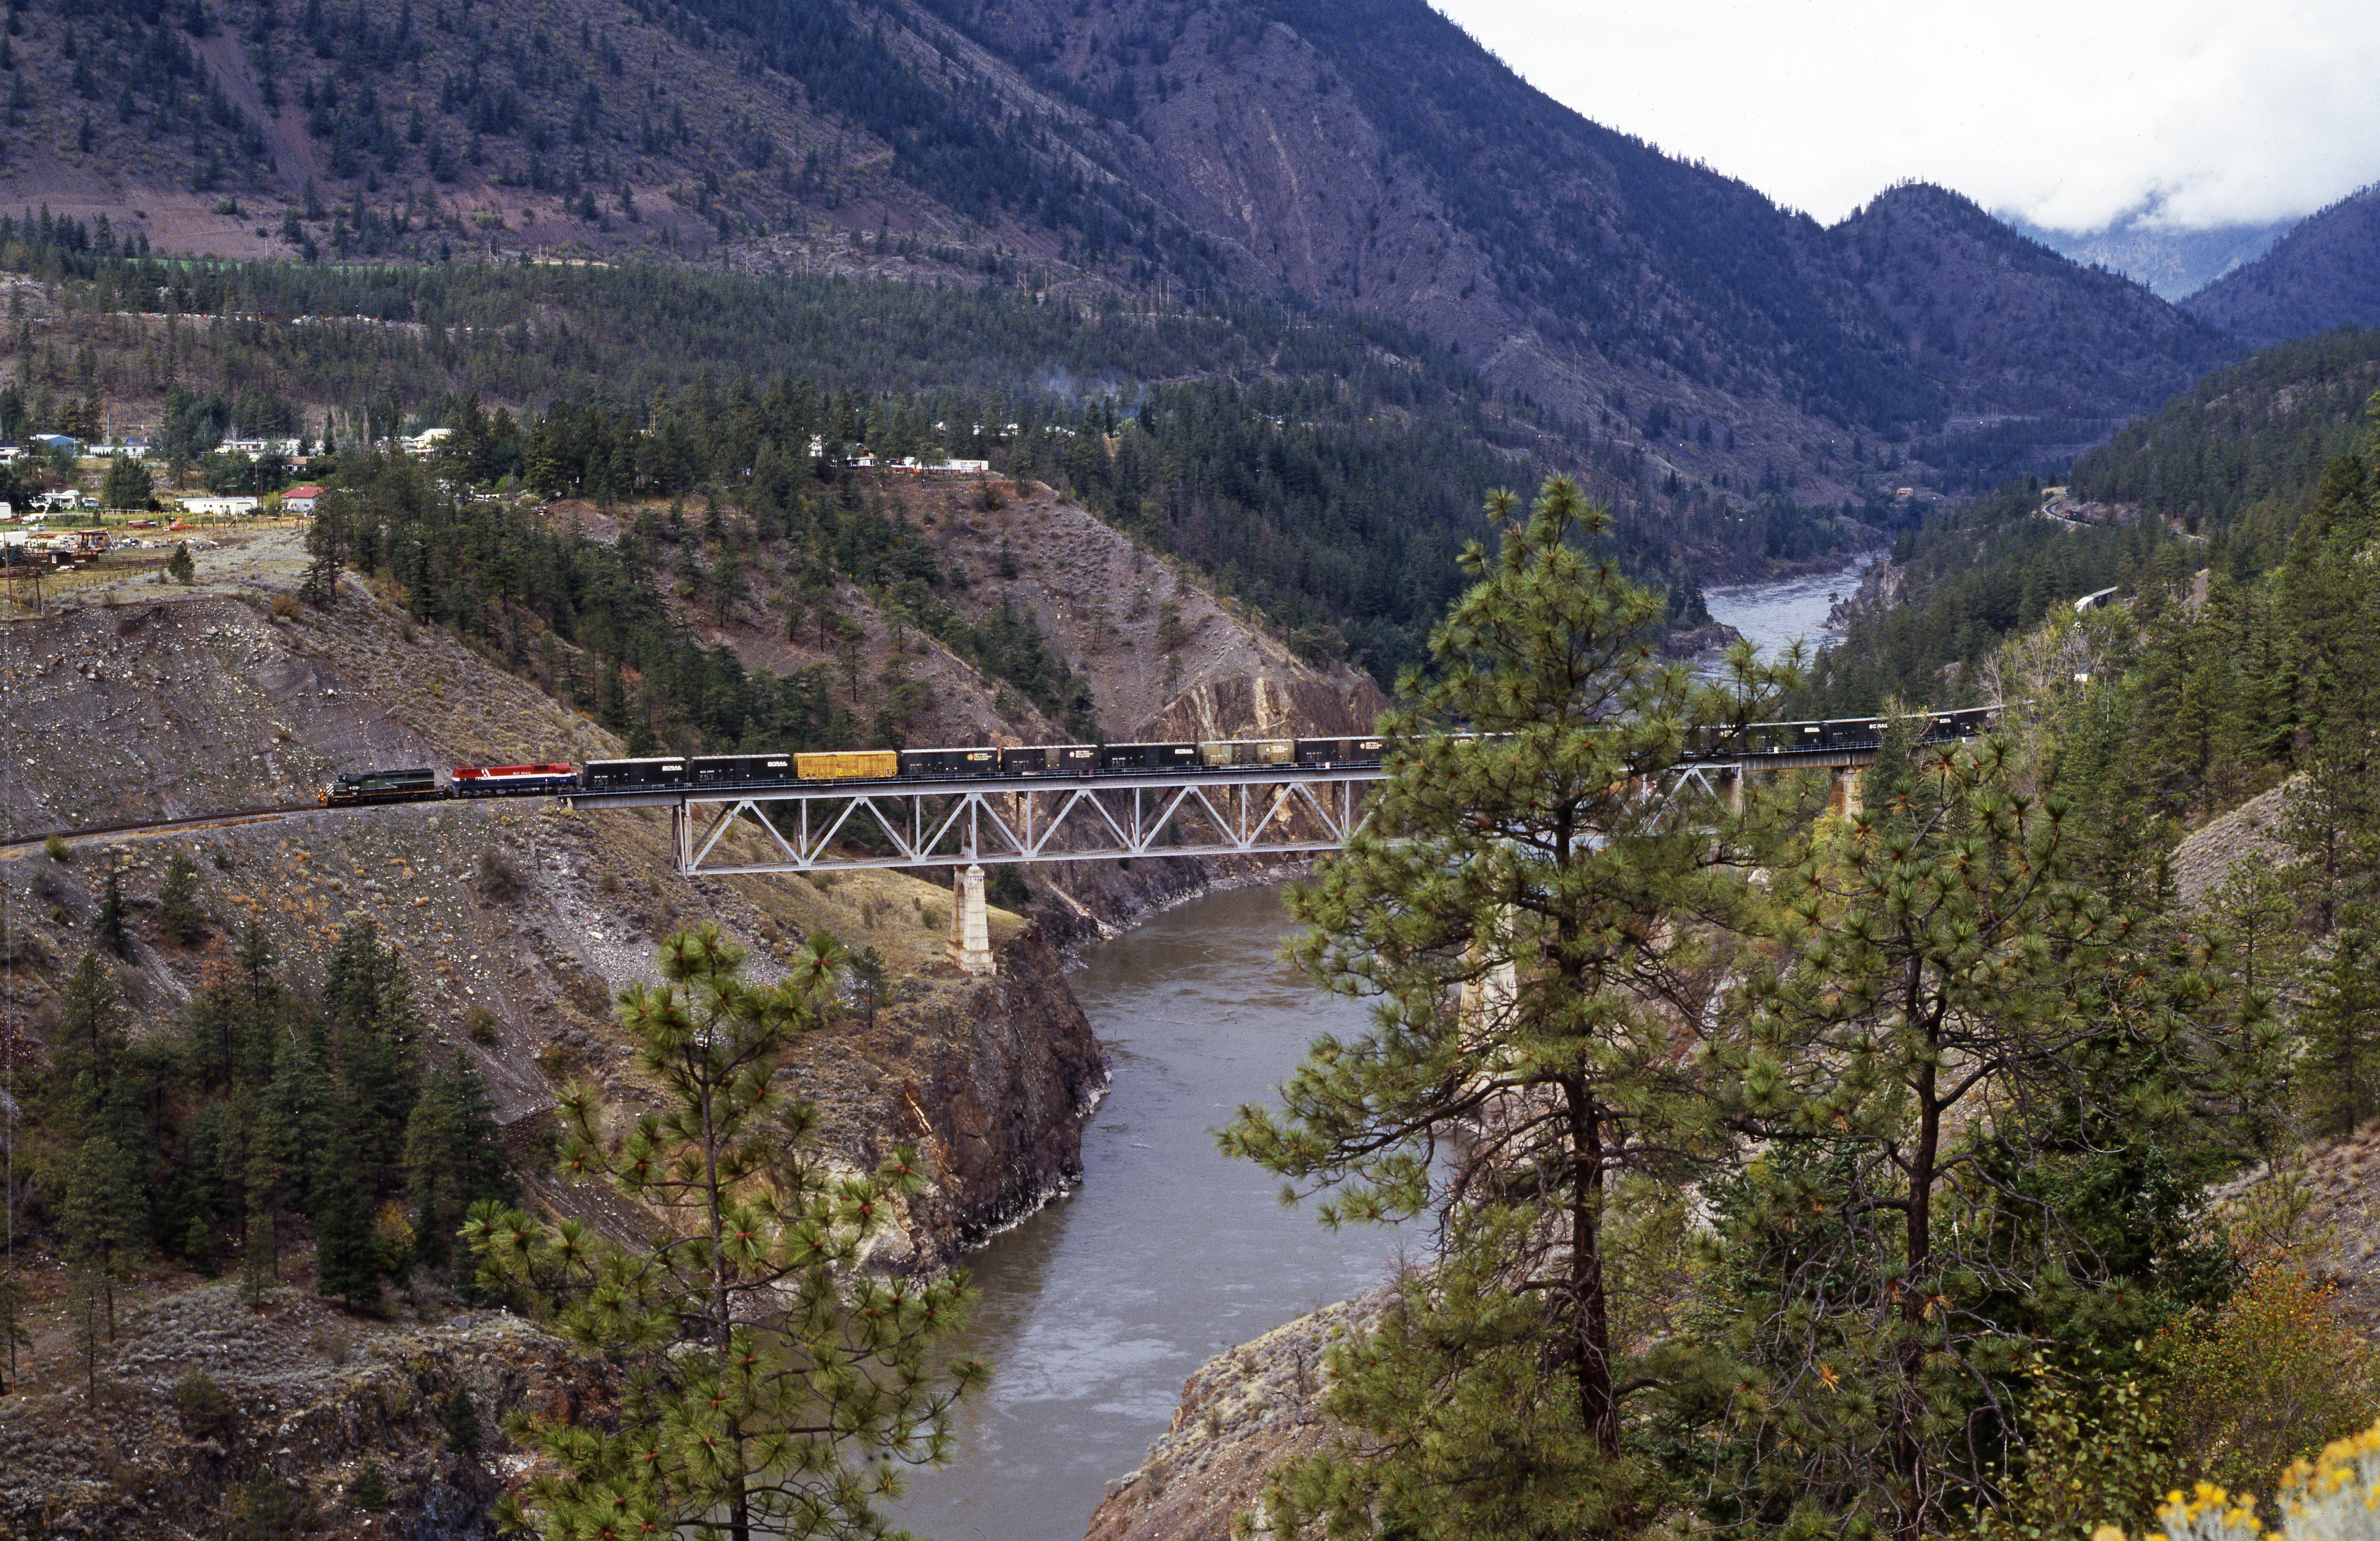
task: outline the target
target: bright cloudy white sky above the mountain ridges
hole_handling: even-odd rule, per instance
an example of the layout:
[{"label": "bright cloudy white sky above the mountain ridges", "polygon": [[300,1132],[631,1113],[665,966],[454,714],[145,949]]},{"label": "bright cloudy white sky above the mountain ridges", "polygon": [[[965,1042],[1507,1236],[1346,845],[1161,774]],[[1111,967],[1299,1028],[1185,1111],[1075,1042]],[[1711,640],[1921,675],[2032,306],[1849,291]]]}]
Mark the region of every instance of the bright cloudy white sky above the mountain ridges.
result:
[{"label": "bright cloudy white sky above the mountain ridges", "polygon": [[2375,0],[1433,0],[1537,91],[1833,224],[1897,181],[2094,231],[2380,181]]}]

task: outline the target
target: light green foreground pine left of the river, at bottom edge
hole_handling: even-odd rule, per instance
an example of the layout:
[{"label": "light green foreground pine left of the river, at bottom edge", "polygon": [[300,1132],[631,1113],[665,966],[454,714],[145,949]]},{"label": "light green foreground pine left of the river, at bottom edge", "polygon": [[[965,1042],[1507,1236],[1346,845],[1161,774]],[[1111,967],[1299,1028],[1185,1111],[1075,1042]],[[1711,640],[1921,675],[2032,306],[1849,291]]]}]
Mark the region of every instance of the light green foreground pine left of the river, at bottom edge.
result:
[{"label": "light green foreground pine left of the river, at bottom edge", "polygon": [[952,1398],[981,1377],[962,1360],[938,1384],[926,1365],[962,1315],[964,1281],[852,1267],[885,1200],[914,1193],[919,1174],[907,1150],[873,1177],[804,1160],[814,1112],[776,1074],[816,1024],[802,988],[747,984],[716,927],[662,943],[662,979],[621,998],[621,1022],[669,1088],[666,1110],[612,1138],[593,1093],[566,1088],[562,1169],[609,1177],[683,1229],[619,1248],[495,1205],[464,1227],[490,1284],[557,1298],[566,1336],[628,1360],[602,1424],[509,1424],[555,1470],[507,1498],[505,1520],[555,1539],[878,1534],[900,1462],[942,1455]]}]

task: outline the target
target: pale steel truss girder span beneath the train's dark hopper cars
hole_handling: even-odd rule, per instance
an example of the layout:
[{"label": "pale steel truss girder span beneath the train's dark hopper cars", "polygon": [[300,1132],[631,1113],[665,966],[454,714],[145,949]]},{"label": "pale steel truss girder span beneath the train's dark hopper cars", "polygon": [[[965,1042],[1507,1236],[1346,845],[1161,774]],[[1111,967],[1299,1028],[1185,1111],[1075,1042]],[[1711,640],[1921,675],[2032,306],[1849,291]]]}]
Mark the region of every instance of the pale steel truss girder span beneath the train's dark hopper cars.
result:
[{"label": "pale steel truss girder span beneath the train's dark hopper cars", "polygon": [[[738,788],[669,803],[678,872],[716,876],[1340,850],[1364,826],[1364,788],[1378,779],[1376,767],[1271,767],[1166,779]],[[774,857],[724,850],[738,829]],[[890,850],[852,850],[854,841]]]}]

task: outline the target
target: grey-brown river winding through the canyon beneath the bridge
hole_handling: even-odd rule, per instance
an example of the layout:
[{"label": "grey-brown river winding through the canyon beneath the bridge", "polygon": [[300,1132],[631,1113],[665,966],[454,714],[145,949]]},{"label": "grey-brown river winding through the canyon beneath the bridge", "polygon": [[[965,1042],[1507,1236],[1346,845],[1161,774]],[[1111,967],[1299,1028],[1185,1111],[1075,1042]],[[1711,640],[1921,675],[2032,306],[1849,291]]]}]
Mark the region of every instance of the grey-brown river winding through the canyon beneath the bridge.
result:
[{"label": "grey-brown river winding through the canyon beneath the bridge", "polygon": [[[1814,645],[1840,572],[1711,591],[1764,653]],[[1216,1155],[1240,1103],[1269,1103],[1316,1034],[1364,1005],[1280,962],[1273,888],[1211,893],[1100,943],[1073,991],[1114,1060],[1083,1134],[1083,1186],[969,1260],[981,1305],[962,1353],[992,1384],[962,1403],[952,1465],[919,1472],[895,1520],[933,1541],[1073,1541],[1107,1484],[1140,1465],[1202,1362],[1388,1277],[1399,1236],[1338,1234],[1280,1184]]]}]

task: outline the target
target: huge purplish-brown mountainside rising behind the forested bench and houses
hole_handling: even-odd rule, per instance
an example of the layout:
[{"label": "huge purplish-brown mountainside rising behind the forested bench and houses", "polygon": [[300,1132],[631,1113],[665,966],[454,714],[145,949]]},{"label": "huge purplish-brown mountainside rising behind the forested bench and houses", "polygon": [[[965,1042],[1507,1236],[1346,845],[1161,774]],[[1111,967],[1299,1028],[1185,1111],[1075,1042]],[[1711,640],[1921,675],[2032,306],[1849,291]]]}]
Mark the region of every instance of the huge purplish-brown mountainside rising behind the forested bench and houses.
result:
[{"label": "huge purplish-brown mountainside rising behind the forested bench and houses", "polygon": [[[1942,286],[1933,238],[1828,231],[1664,157],[1421,0],[12,17],[0,207],[105,214],[136,250],[635,255],[1349,310],[1526,393],[1580,455],[1642,453],[1647,495],[1875,495],[1925,457],[1999,455],[1959,429],[2052,414],[2035,438],[2061,441],[2213,348],[2021,243]],[[1944,312],[1961,348],[1997,348],[1980,376],[1942,374]],[[2121,348],[2078,379],[2078,338]],[[1925,450],[1868,464],[1878,441]]]}]

